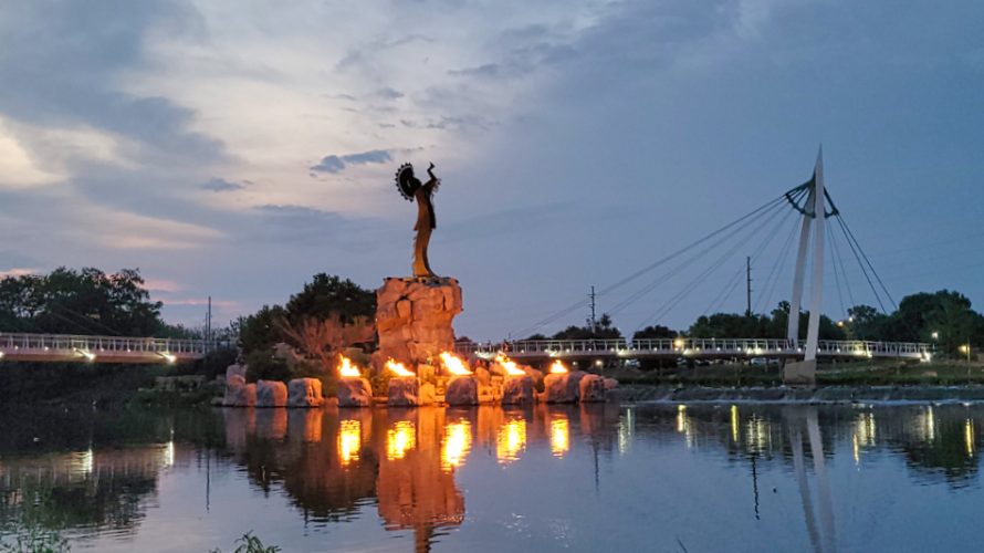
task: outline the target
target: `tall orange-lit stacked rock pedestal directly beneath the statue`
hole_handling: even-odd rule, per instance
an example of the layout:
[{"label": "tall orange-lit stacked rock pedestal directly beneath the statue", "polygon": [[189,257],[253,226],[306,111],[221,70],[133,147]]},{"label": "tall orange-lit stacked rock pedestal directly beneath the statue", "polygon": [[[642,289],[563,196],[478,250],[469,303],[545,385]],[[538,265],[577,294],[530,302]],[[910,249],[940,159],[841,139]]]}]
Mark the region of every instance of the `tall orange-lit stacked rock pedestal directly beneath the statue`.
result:
[{"label": "tall orange-lit stacked rock pedestal directly beneath the statue", "polygon": [[388,358],[414,368],[454,347],[451,321],[461,313],[461,286],[443,279],[388,278],[376,291],[379,364]]}]

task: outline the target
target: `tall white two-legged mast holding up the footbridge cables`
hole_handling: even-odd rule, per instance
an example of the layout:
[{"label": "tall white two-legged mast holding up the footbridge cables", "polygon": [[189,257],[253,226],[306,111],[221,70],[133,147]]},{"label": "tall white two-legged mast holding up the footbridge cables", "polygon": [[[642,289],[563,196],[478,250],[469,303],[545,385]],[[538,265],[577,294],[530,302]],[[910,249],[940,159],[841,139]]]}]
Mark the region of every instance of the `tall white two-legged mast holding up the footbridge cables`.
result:
[{"label": "tall white two-legged mast holding up the footbridge cables", "polygon": [[[814,167],[813,186],[806,205],[810,208],[803,213],[803,229],[799,233],[799,251],[796,255],[796,274],[793,281],[793,299],[789,302],[788,337],[794,345],[799,344],[799,303],[803,295],[803,279],[806,264],[806,248],[809,243],[809,227],[815,227],[813,263],[809,279],[809,322],[806,327],[806,346],[803,362],[787,363],[783,368],[783,382],[794,385],[814,385],[817,374],[817,346],[819,345],[820,316],[824,303],[824,239],[826,230],[826,206],[824,205],[824,152],[817,154]],[[812,201],[810,201],[812,200]],[[810,212],[812,211],[812,212]]]}]

